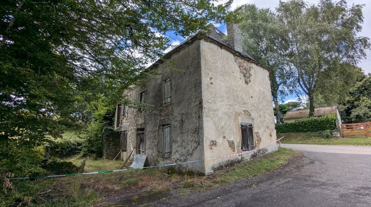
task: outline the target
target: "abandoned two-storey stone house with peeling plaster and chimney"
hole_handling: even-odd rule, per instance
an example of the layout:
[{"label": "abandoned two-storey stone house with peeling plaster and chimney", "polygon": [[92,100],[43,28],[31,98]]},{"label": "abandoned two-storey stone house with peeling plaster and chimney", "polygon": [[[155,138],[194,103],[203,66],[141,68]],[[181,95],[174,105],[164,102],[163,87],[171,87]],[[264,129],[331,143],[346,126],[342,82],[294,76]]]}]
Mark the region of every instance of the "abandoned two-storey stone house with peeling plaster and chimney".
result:
[{"label": "abandoned two-storey stone house with peeling plaster and chimney", "polygon": [[[269,69],[242,50],[236,25],[227,30],[186,40],[165,55],[171,61],[150,67],[157,75],[125,92],[148,106],[117,105],[122,159],[134,150],[150,166],[201,160],[174,167],[207,174],[277,149]],[[251,152],[220,158],[243,151]]]}]

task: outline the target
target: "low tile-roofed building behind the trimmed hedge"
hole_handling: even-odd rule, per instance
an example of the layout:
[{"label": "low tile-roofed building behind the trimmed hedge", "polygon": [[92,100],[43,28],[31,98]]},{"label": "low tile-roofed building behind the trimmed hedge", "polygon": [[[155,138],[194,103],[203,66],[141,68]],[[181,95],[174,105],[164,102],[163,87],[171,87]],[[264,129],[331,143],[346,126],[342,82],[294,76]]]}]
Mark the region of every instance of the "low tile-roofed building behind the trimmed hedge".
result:
[{"label": "low tile-roofed building behind the trimmed hedge", "polygon": [[[314,109],[314,116],[317,116],[317,117],[330,115],[330,114],[333,114],[336,116],[336,127],[340,129],[341,117],[340,117],[340,113],[336,105]],[[283,116],[283,119],[285,122],[290,123],[290,122],[300,121],[301,119],[308,118],[308,117],[309,117],[309,109],[306,109],[306,110],[297,110],[297,111],[287,111],[287,113]]]}]

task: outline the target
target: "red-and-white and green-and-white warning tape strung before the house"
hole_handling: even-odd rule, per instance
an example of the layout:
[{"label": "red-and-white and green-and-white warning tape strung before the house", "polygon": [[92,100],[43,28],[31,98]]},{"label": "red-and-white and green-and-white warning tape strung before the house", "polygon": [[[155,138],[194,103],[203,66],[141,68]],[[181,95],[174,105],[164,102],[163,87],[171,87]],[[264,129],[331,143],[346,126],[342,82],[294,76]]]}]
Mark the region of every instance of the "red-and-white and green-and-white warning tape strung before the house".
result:
[{"label": "red-and-white and green-and-white warning tape strung before the house", "polygon": [[[272,142],[272,143],[276,143],[279,140],[281,140],[282,138],[284,138],[284,136],[277,139],[275,142]],[[269,146],[269,145],[267,145],[267,146]],[[214,160],[214,159],[223,158],[223,157],[233,157],[233,156],[238,156],[238,155],[242,155],[242,154],[246,154],[246,153],[251,153],[251,152],[257,151],[259,149],[265,148],[267,146],[260,147],[258,149],[254,149],[254,150],[250,150],[250,151],[241,152],[241,153],[235,153],[235,154],[230,154],[230,155],[222,155],[222,156],[219,156],[219,157],[207,158],[207,159],[202,159],[202,160],[193,160],[193,161],[187,161],[187,162],[181,162],[181,163],[172,163],[172,164],[149,166],[149,167],[144,167],[143,169],[161,168],[161,167],[167,167],[167,166],[174,166],[174,165],[182,165],[182,164],[201,162],[201,161],[205,161],[205,160]],[[10,179],[10,180],[20,180],[20,179],[30,179],[30,178],[33,178],[33,179],[36,179],[36,178],[51,178],[51,177],[73,176],[73,175],[85,175],[85,174],[116,173],[116,172],[133,171],[133,170],[141,170],[141,169],[130,168],[130,169],[119,169],[119,170],[110,170],[110,171],[97,171],[97,172],[90,172],[90,173],[57,174],[57,175],[44,175],[44,176],[34,176],[34,177],[13,177],[13,178],[8,178],[8,179]]]}]

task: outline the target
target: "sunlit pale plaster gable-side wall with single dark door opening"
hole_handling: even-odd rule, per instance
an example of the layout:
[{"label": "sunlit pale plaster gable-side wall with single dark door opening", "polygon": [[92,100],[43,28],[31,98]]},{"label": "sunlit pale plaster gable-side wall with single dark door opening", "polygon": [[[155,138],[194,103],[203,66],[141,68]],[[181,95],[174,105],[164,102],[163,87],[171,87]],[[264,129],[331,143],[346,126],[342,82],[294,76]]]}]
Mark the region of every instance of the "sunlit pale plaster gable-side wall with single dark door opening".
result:
[{"label": "sunlit pale plaster gable-side wall with single dark door opening", "polygon": [[[268,146],[261,153],[276,150],[268,70],[213,43],[201,40],[200,45],[205,158],[241,152],[241,122],[253,122],[256,148]],[[205,161],[205,173],[240,159]]]}]

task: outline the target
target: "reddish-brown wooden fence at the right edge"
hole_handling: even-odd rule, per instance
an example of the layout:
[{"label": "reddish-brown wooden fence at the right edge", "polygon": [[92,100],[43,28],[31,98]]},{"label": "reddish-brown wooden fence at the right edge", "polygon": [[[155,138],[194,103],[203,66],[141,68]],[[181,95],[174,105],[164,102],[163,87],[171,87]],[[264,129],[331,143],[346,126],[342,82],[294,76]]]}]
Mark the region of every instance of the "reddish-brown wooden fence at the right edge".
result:
[{"label": "reddish-brown wooden fence at the right edge", "polygon": [[371,122],[341,124],[343,137],[371,137]]}]

